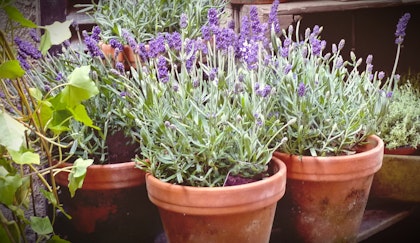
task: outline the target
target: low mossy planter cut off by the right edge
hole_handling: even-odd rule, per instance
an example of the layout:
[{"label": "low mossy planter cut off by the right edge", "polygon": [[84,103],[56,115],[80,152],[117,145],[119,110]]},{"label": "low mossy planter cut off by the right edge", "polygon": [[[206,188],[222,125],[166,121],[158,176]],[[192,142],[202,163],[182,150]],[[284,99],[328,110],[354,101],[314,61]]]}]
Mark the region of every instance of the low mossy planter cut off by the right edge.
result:
[{"label": "low mossy planter cut off by the right edge", "polygon": [[372,182],[372,199],[420,202],[420,156],[385,154]]}]

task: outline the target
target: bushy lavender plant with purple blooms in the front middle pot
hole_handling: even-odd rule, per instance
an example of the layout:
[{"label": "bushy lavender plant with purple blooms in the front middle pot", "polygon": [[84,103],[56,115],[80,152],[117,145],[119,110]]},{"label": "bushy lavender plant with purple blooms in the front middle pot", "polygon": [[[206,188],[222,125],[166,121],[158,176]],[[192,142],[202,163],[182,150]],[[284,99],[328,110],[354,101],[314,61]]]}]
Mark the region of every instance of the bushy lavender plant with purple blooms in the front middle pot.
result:
[{"label": "bushy lavender plant with purple blooms in the front middle pot", "polygon": [[141,143],[137,167],[169,183],[214,187],[261,179],[281,144],[273,139],[293,122],[273,112],[267,25],[251,17],[255,28],[238,34],[232,25],[220,27],[217,16],[209,10],[202,38],[185,38],[184,31],[157,36],[149,65],[121,80],[126,117],[135,120]]}]

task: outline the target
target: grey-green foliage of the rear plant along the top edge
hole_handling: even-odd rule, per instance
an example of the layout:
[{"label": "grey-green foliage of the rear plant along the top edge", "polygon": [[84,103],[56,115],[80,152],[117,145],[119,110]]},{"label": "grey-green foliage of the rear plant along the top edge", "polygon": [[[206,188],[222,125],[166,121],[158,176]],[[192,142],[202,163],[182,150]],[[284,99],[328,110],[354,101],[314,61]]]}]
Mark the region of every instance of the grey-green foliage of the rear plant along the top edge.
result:
[{"label": "grey-green foliage of the rear plant along the top edge", "polygon": [[200,34],[210,8],[221,10],[224,0],[99,0],[79,4],[80,12],[88,13],[102,29],[102,38],[125,40],[123,30],[134,35],[138,42],[147,42],[158,33],[180,31],[179,19],[186,14],[190,38]]}]

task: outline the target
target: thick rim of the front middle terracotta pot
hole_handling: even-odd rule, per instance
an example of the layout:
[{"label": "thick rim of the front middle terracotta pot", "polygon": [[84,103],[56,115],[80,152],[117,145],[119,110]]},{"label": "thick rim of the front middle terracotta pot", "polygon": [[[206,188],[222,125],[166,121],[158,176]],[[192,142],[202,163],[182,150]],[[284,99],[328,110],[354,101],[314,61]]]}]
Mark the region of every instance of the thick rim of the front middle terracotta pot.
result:
[{"label": "thick rim of the front middle terracotta pot", "polygon": [[272,158],[277,172],[266,179],[227,187],[174,185],[146,174],[149,199],[161,209],[193,215],[221,215],[255,210],[277,203],[286,189],[286,166]]}]

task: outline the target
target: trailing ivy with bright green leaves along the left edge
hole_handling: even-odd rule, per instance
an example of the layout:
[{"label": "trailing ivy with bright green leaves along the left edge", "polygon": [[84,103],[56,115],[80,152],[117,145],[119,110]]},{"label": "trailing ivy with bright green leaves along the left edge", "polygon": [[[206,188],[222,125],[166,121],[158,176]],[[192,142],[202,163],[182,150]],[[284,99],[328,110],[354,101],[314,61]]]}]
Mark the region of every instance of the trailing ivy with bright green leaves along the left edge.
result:
[{"label": "trailing ivy with bright green leaves along the left edge", "polygon": [[[92,80],[79,80],[89,73],[89,66],[86,66],[74,70],[74,77],[69,77],[69,82],[42,94],[32,85],[33,80],[23,68],[22,60],[16,58],[19,47],[6,36],[10,34],[13,40],[13,33],[18,28],[44,29],[40,48],[46,53],[51,45],[69,38],[70,22],[37,26],[12,6],[11,1],[2,2],[0,6],[9,17],[6,29],[0,30],[0,203],[13,216],[6,218],[3,211],[0,212],[0,241],[27,242],[30,232],[33,235],[36,233],[39,242],[67,242],[54,235],[48,217],[28,215],[30,201],[38,203],[34,202],[36,192],[33,191],[32,180],[36,177],[42,183],[45,190],[41,191],[52,202],[52,211],[55,213],[58,209],[67,215],[58,199],[54,175],[62,170],[79,168],[56,169],[55,163],[62,163],[68,158],[59,156],[53,161],[52,151],[60,151],[67,146],[60,142],[59,134],[68,130],[69,121],[93,126],[82,102],[97,94],[98,90]],[[66,115],[63,116],[63,113]],[[61,128],[55,129],[57,125]],[[78,188],[83,181],[80,173],[77,179],[70,181],[72,184],[77,181]],[[49,176],[52,182],[48,182],[45,176]]]}]

